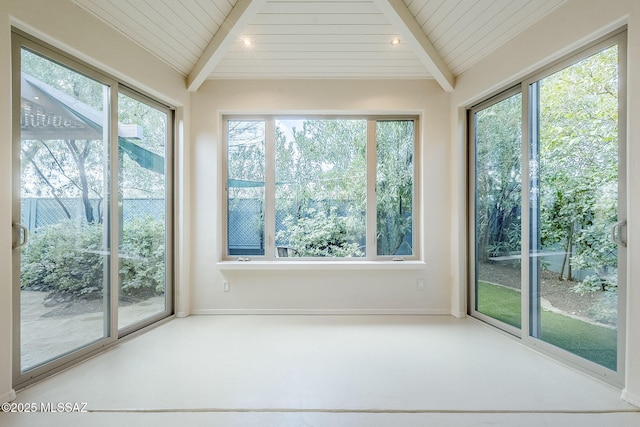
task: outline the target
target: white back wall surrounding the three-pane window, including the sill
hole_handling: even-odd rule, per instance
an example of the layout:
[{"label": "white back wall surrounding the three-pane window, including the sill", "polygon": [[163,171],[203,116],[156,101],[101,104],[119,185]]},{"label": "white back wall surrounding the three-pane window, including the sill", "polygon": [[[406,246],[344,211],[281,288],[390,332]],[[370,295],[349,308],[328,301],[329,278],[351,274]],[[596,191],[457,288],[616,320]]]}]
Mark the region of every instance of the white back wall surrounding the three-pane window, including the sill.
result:
[{"label": "white back wall surrounding the three-pane window, including the sill", "polygon": [[[449,95],[432,81],[209,81],[192,96],[192,312],[449,313]],[[223,292],[220,175],[223,113],[420,114],[420,270],[234,271]],[[423,278],[424,291],[416,279]]]}]

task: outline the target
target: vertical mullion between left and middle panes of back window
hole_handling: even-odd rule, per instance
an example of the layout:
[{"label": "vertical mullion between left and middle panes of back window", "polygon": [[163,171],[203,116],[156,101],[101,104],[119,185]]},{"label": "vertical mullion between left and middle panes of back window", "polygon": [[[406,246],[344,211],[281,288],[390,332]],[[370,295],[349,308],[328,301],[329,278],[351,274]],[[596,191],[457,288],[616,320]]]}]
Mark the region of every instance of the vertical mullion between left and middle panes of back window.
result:
[{"label": "vertical mullion between left and middle panes of back window", "polygon": [[276,143],[275,119],[270,117],[265,123],[265,258],[275,259],[276,233]]}]

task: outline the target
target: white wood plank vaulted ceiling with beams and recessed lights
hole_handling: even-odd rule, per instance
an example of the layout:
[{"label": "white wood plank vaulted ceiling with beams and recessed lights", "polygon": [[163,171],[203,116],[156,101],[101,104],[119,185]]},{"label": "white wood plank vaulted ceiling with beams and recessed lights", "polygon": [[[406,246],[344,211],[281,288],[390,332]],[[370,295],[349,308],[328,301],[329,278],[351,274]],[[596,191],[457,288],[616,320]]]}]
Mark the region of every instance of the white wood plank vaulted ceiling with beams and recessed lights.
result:
[{"label": "white wood plank vaulted ceiling with beams and recessed lights", "polygon": [[[455,76],[564,0],[71,0],[204,79]],[[392,40],[398,39],[397,45]]]}]

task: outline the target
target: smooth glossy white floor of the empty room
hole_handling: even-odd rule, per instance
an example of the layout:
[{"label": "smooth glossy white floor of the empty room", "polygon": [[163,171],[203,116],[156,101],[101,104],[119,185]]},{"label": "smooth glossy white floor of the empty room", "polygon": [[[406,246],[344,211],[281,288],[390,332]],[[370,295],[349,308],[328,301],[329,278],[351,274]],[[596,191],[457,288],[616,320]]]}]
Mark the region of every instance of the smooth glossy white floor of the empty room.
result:
[{"label": "smooth glossy white floor of the empty room", "polygon": [[36,426],[638,426],[620,390],[468,319],[193,316],[18,393]]}]

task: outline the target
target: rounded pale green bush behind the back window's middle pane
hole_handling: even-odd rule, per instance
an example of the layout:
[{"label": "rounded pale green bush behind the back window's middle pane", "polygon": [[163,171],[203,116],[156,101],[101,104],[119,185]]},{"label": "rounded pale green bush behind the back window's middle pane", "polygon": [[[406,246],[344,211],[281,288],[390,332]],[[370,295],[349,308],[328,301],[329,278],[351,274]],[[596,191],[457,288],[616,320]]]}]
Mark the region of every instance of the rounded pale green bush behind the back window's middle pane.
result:
[{"label": "rounded pale green bush behind the back window's middle pane", "polygon": [[305,209],[303,216],[288,215],[285,228],[277,233],[278,240],[288,242],[300,257],[357,257],[363,256],[359,244],[350,236],[354,224],[349,217],[338,216],[335,208],[329,211]]}]

